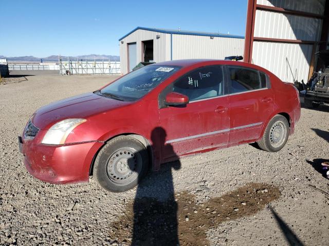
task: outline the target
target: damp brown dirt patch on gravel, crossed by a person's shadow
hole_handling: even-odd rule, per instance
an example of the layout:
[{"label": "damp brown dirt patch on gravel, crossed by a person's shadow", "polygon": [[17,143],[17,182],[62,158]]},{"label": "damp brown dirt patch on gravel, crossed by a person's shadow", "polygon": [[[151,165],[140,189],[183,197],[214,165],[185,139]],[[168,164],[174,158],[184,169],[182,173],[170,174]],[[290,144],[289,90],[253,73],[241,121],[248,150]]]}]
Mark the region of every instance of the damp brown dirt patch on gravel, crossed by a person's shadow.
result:
[{"label": "damp brown dirt patch on gravel, crossed by a person's shadow", "polygon": [[277,187],[249,183],[204,203],[198,203],[187,191],[165,202],[136,198],[111,225],[109,237],[112,243],[123,245],[209,245],[208,229],[253,215],[279,196]]}]

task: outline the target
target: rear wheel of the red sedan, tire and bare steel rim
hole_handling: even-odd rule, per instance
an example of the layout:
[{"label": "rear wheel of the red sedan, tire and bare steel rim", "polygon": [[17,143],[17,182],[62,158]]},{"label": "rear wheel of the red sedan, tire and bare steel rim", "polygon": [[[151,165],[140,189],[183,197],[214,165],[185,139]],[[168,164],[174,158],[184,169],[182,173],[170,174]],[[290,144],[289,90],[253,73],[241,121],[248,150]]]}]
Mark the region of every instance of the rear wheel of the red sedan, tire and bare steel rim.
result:
[{"label": "rear wheel of the red sedan, tire and bare steel rim", "polygon": [[288,140],[289,130],[287,119],[277,114],[268,122],[262,139],[257,142],[259,148],[268,152],[281,150]]}]

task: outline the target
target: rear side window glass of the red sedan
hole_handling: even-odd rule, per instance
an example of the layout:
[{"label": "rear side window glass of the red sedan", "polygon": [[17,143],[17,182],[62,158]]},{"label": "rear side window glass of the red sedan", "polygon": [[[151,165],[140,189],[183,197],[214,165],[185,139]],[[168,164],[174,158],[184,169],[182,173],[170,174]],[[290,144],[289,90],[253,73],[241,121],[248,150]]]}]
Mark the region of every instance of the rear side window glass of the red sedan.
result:
[{"label": "rear side window glass of the red sedan", "polygon": [[266,74],[244,67],[228,67],[229,92],[245,92],[267,87]]}]

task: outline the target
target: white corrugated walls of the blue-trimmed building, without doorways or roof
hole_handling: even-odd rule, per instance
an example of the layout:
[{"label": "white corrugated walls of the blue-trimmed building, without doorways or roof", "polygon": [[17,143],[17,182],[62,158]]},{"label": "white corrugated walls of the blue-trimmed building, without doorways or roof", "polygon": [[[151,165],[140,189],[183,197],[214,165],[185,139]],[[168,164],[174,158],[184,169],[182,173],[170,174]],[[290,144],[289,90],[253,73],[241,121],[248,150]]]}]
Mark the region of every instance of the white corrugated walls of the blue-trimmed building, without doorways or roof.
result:
[{"label": "white corrugated walls of the blue-trimmed building, without doorways or roof", "polygon": [[[156,35],[160,35],[160,38],[157,39]],[[225,56],[243,55],[244,52],[243,38],[214,37],[211,39],[210,36],[169,34],[138,29],[124,37],[121,40],[123,43],[120,41],[122,74],[128,72],[127,45],[136,42],[138,64],[142,61],[142,41],[151,39],[154,40],[153,50],[156,63],[171,60],[171,47],[172,59],[174,60],[192,58],[224,59]]]}]

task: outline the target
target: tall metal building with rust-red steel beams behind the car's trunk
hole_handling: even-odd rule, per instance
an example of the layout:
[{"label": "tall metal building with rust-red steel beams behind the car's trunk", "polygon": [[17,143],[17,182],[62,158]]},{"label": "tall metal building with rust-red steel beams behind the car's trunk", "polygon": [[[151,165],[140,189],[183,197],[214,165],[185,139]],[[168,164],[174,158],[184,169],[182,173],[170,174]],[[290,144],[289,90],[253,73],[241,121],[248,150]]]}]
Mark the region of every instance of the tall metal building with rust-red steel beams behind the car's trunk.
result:
[{"label": "tall metal building with rust-red steel beams behind the car's trunk", "polygon": [[329,0],[248,0],[245,61],[281,80],[306,81],[328,48]]}]

